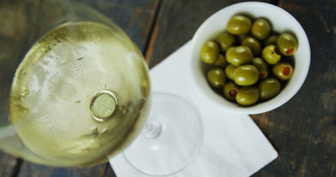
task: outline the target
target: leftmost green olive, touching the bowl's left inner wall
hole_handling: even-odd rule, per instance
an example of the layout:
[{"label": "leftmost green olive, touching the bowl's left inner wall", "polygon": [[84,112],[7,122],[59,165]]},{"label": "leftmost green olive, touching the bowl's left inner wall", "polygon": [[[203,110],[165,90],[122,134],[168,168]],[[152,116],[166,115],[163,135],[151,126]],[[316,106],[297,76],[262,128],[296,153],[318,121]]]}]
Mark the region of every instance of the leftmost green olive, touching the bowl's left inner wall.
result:
[{"label": "leftmost green olive, touching the bowl's left inner wall", "polygon": [[201,48],[201,58],[205,63],[211,64],[215,62],[219,55],[219,47],[213,41],[208,41]]}]

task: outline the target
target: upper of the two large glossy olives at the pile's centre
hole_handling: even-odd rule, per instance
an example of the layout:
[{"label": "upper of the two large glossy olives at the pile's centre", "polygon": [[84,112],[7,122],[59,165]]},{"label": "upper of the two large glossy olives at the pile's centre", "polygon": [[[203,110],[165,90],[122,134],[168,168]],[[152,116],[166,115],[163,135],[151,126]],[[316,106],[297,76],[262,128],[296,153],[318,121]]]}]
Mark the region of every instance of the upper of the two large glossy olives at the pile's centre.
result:
[{"label": "upper of the two large glossy olives at the pile's centre", "polygon": [[227,61],[235,66],[249,64],[252,61],[253,54],[251,49],[246,46],[235,47],[226,58]]}]

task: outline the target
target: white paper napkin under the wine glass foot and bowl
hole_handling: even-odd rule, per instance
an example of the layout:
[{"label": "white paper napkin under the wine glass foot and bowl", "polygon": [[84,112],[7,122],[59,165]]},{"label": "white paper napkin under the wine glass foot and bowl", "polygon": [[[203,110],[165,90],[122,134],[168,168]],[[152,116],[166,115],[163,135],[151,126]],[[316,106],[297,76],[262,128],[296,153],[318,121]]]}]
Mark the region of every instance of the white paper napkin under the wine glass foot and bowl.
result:
[{"label": "white paper napkin under the wine glass foot and bowl", "polygon": [[[190,72],[191,42],[150,71],[152,91],[178,95],[196,105],[204,124],[197,157],[169,177],[246,177],[278,157],[249,115],[220,110],[198,93]],[[117,177],[149,177],[131,166],[123,154],[110,159]]]}]

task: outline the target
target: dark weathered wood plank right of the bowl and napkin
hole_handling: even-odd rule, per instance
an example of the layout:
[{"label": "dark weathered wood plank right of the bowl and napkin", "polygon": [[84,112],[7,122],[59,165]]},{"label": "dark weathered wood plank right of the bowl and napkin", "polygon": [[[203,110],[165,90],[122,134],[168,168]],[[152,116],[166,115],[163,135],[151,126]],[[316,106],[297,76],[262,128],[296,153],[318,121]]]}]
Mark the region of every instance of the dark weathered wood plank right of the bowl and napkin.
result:
[{"label": "dark weathered wood plank right of the bowl and napkin", "polygon": [[279,158],[255,176],[336,176],[336,2],[280,0],[304,28],[309,73],[285,105],[253,115]]}]

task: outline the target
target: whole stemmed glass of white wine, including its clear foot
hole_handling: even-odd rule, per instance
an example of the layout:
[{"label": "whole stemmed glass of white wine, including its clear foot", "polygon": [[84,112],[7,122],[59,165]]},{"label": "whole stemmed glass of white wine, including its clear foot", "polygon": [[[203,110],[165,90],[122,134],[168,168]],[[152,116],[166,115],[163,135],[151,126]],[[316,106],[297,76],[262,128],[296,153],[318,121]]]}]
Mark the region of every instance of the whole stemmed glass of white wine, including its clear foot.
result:
[{"label": "whole stemmed glass of white wine, including its clear foot", "polygon": [[203,139],[197,110],[151,93],[141,52],[115,23],[77,1],[34,8],[39,1],[0,3],[0,149],[59,167],[123,153],[159,176],[195,158]]}]

